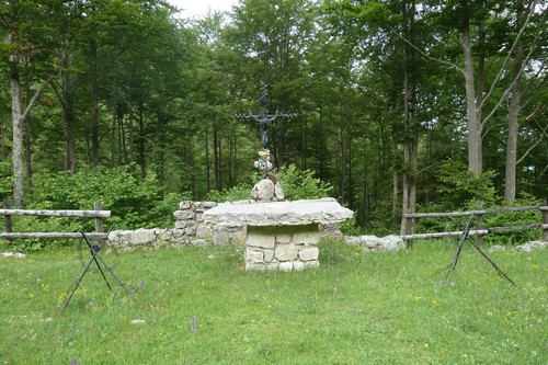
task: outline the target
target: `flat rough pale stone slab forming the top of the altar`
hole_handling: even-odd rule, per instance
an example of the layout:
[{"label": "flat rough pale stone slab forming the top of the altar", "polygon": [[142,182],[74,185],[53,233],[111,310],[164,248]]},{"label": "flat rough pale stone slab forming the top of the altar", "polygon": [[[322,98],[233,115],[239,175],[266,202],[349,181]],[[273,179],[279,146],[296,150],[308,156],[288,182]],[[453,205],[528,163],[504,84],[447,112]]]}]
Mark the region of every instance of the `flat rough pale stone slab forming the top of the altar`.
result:
[{"label": "flat rough pale stone slab forming the top of the altar", "polygon": [[204,220],[242,226],[302,226],[344,221],[353,215],[334,198],[273,203],[246,201],[219,204],[204,213]]}]

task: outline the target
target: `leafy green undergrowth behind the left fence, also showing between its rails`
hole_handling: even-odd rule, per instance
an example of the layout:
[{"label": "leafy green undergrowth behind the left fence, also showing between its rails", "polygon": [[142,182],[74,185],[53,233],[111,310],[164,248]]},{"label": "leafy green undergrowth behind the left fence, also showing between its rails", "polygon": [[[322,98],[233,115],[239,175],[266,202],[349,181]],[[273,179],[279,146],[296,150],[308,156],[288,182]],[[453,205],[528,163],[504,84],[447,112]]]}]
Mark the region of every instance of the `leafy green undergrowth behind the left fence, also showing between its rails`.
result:
[{"label": "leafy green undergrowth behind the left fence, also showing between its rails", "polygon": [[[138,181],[128,168],[81,168],[77,173],[59,172],[36,176],[28,209],[94,209],[101,202],[103,209],[111,210],[105,219],[113,229],[173,227],[173,212],[181,201],[191,198],[189,193],[161,195],[156,175]],[[94,219],[59,217],[13,217],[16,232],[75,232],[93,231]],[[3,223],[2,223],[3,225]],[[65,240],[66,241],[66,240]],[[12,247],[35,251],[50,243],[46,240],[15,240]],[[61,241],[59,241],[61,242]]]}]

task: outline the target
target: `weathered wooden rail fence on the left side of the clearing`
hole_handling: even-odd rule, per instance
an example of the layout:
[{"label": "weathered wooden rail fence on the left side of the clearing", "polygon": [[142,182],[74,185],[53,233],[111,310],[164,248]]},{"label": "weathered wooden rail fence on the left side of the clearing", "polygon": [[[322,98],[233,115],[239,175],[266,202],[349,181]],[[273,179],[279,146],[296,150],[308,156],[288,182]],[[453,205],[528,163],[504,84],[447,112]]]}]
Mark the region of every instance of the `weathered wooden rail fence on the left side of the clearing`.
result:
[{"label": "weathered wooden rail fence on the left side of the clearing", "polygon": [[104,232],[104,218],[111,216],[111,210],[103,210],[101,203],[94,204],[94,210],[26,210],[26,209],[10,209],[7,202],[4,202],[4,209],[0,209],[0,215],[5,219],[5,232],[0,232],[0,239],[33,239],[33,238],[47,238],[47,239],[68,239],[81,238],[81,232],[13,232],[12,231],[12,216],[38,216],[38,217],[83,217],[95,219],[95,232],[85,233],[91,238],[103,238],[106,236]]}]

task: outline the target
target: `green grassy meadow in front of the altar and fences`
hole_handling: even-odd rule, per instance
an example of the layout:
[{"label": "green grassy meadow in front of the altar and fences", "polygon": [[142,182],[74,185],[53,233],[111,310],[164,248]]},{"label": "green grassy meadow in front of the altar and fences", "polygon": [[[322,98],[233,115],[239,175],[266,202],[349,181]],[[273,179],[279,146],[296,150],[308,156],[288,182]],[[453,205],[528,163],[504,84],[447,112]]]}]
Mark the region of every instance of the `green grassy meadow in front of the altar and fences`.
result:
[{"label": "green grassy meadow in front of the altar and fences", "polygon": [[125,252],[137,300],[90,273],[65,312],[76,251],[2,259],[0,364],[547,364],[548,250],[490,254],[518,288],[469,247],[446,281],[453,253],[324,242],[318,270],[260,273],[232,247]]}]

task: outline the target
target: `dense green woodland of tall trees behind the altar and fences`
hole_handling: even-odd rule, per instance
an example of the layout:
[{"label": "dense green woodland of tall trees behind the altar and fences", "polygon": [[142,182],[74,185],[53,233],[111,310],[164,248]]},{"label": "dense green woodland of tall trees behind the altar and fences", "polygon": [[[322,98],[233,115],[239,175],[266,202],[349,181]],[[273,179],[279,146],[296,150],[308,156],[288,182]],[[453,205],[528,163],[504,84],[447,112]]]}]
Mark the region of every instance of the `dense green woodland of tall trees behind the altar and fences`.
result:
[{"label": "dense green woodland of tall trees behind the altar and fences", "polygon": [[297,114],[270,128],[281,175],[330,186],[362,228],[538,203],[547,13],[529,0],[240,0],[187,20],[161,0],[2,1],[0,191],[11,206],[102,201],[125,226],[247,194],[261,138],[235,114],[260,111],[264,82],[271,112]]}]

